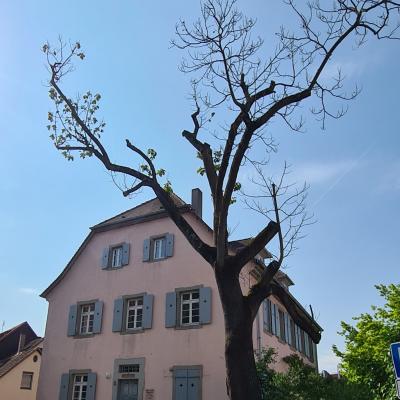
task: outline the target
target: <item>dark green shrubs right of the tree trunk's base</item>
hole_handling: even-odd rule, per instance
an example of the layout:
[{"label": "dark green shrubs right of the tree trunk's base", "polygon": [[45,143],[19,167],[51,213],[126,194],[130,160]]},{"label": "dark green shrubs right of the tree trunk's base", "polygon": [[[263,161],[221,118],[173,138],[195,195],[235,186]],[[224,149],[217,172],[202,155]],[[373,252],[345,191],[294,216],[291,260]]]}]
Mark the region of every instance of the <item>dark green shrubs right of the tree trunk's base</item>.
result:
[{"label": "dark green shrubs right of the tree trunk's base", "polygon": [[296,355],[284,358],[285,373],[276,372],[274,349],[264,349],[257,358],[257,373],[262,398],[274,400],[372,400],[373,396],[361,384],[346,379],[324,378]]}]

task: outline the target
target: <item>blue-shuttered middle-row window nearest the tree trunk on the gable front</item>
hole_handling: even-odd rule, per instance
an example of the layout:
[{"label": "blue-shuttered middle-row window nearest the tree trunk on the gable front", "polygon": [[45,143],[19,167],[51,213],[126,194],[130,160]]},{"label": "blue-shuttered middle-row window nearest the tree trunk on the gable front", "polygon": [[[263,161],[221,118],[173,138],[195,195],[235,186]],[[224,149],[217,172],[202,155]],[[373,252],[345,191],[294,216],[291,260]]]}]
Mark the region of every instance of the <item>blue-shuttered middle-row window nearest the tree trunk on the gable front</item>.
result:
[{"label": "blue-shuttered middle-row window nearest the tree trunk on the gable front", "polygon": [[165,298],[165,327],[192,328],[211,323],[210,287],[175,289]]}]

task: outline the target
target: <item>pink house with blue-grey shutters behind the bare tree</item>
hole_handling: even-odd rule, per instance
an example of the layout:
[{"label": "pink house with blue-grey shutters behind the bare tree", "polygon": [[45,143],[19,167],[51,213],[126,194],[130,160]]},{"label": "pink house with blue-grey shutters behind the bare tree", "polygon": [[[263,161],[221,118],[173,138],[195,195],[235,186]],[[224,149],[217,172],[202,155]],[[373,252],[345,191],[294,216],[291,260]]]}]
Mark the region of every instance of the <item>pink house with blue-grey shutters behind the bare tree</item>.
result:
[{"label": "pink house with blue-grey shutters behind the bare tree", "polygon": [[[201,192],[176,203],[199,236]],[[234,252],[243,241],[231,243]],[[246,291],[265,251],[241,274]],[[254,347],[297,353],[317,366],[309,333],[321,328],[290,294],[296,322],[271,297],[254,324]],[[224,323],[210,266],[188,244],[157,199],[94,227],[59,277],[43,292],[49,302],[38,400],[227,399]],[[287,303],[286,303],[287,304]],[[299,327],[301,325],[303,329]]]}]

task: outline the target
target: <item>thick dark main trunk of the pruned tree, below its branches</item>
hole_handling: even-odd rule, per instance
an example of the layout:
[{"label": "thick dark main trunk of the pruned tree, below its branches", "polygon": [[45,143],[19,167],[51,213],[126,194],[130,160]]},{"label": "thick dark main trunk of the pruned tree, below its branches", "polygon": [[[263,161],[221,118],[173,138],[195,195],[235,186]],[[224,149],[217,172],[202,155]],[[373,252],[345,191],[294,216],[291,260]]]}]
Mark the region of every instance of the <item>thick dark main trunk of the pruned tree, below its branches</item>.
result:
[{"label": "thick dark main trunk of the pruned tree, below its branches", "polygon": [[226,385],[230,400],[261,400],[253,349],[253,318],[239,279],[216,273],[225,321]]}]

